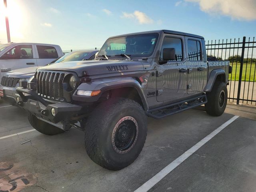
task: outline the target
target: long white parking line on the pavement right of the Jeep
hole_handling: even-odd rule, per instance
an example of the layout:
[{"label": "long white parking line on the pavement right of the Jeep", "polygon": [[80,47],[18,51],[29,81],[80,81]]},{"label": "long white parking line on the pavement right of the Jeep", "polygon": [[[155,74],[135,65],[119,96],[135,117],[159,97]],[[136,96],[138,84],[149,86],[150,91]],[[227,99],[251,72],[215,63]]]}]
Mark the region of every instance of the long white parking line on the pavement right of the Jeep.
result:
[{"label": "long white parking line on the pavement right of the Jeep", "polygon": [[158,172],[155,176],[153,176],[150,180],[148,180],[146,183],[144,183],[142,186],[140,186],[138,189],[136,189],[134,192],[147,192],[150,190],[155,184],[157,184],[162,178],[164,178],[167,174],[169,174],[172,170],[174,170],[177,166],[179,166],[184,160],[186,160],[189,156],[191,156],[194,152],[196,152],[200,147],[202,147],[206,142],[208,142],[211,138],[213,138],[216,134],[218,134],[221,130],[223,130],[226,126],[228,126],[230,123],[232,123],[234,120],[236,120],[239,116],[234,116],[224,124],[222,124],[220,127],[218,127],[216,130],[214,130],[212,133],[210,133],[208,136],[203,138],[200,142],[192,146],[189,150],[184,152],[181,156],[176,158],[173,162],[168,164],[165,168],[163,168],[160,172]]}]

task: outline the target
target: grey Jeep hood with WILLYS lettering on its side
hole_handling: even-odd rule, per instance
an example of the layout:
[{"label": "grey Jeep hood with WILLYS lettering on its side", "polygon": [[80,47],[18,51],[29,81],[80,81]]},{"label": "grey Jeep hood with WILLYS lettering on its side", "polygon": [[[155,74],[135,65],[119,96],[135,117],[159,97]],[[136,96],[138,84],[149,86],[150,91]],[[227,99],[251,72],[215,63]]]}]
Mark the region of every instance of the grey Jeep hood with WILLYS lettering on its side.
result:
[{"label": "grey Jeep hood with WILLYS lettering on its side", "polygon": [[87,61],[70,61],[51,64],[41,67],[40,70],[59,70],[73,71],[82,76],[82,72],[86,71],[88,75],[100,75],[109,73],[123,73],[131,71],[144,70],[143,63],[148,61],[128,61],[128,60],[87,60]]}]

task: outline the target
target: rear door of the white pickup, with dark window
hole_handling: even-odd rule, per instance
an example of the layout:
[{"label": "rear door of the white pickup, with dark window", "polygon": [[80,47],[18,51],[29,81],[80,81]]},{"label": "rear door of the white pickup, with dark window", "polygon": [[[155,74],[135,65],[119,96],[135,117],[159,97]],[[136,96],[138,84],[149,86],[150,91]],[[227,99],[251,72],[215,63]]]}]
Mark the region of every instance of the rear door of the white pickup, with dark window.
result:
[{"label": "rear door of the white pickup, with dark window", "polygon": [[44,66],[58,58],[57,50],[54,46],[35,45],[37,65]]}]

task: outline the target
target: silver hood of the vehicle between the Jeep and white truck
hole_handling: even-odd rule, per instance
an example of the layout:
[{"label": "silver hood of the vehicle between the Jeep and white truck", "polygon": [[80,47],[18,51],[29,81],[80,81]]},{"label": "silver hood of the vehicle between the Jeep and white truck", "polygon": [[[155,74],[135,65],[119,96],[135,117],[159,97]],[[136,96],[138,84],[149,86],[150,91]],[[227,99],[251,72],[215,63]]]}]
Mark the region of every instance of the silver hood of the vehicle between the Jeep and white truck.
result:
[{"label": "silver hood of the vehicle between the Jeep and white truck", "polygon": [[15,78],[30,78],[35,74],[37,68],[38,66],[16,69],[9,71],[5,76]]}]

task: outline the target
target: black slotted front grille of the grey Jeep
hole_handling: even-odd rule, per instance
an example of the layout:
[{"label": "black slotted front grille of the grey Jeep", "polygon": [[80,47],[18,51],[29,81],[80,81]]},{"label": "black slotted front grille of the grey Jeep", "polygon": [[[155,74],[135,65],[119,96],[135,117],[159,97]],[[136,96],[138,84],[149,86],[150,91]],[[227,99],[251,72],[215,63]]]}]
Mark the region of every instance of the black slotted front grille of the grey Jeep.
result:
[{"label": "black slotted front grille of the grey Jeep", "polygon": [[64,100],[62,81],[65,73],[38,71],[35,75],[38,95],[50,100]]}]

